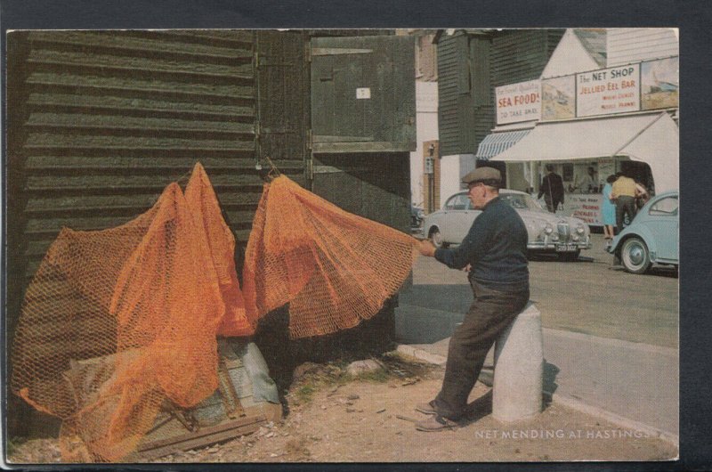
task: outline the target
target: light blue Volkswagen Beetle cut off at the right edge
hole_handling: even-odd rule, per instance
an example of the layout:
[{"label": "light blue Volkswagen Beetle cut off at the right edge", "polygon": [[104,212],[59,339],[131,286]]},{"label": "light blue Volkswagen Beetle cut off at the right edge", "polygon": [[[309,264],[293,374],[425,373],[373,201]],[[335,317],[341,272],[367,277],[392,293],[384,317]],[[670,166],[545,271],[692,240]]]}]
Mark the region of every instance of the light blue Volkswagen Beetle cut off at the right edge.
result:
[{"label": "light blue Volkswagen Beetle cut off at the right edge", "polygon": [[679,264],[678,191],[653,197],[611,242],[608,252],[629,273],[644,273],[651,264]]}]

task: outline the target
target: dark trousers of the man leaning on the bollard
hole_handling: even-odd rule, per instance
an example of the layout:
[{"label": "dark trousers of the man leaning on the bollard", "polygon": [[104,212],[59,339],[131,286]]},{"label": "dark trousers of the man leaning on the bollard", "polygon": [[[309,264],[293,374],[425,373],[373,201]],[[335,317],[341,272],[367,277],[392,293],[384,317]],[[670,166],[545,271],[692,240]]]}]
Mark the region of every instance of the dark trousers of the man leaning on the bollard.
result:
[{"label": "dark trousers of the man leaning on the bollard", "polygon": [[448,362],[442,388],[435,397],[435,410],[447,419],[457,420],[465,413],[467,397],[490,348],[529,301],[529,286],[501,292],[472,283],[474,301],[465,319],[450,338]]}]

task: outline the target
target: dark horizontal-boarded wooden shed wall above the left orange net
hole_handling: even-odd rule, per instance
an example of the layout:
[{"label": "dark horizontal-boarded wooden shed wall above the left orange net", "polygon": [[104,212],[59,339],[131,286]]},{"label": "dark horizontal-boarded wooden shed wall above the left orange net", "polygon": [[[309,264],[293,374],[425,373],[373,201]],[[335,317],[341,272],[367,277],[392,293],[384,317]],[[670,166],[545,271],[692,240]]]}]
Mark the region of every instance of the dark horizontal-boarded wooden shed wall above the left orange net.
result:
[{"label": "dark horizontal-boarded wooden shed wall above the left orange net", "polygon": [[198,160],[246,239],[261,188],[251,32],[36,31],[27,41],[12,159],[26,197],[12,228],[25,276],[62,226],[123,224]]}]

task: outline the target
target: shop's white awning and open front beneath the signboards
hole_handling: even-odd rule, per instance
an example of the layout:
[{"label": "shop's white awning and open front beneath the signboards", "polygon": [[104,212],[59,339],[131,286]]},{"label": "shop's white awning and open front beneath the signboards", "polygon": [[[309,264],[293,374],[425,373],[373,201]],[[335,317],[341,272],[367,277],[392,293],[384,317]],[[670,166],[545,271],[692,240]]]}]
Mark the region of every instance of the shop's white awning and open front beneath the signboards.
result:
[{"label": "shop's white awning and open front beneath the signboards", "polygon": [[557,213],[596,226],[602,224],[609,175],[634,175],[651,194],[678,188],[678,142],[677,125],[667,112],[539,122],[490,160],[506,162],[507,188],[535,196],[551,165],[562,176],[565,192]]}]

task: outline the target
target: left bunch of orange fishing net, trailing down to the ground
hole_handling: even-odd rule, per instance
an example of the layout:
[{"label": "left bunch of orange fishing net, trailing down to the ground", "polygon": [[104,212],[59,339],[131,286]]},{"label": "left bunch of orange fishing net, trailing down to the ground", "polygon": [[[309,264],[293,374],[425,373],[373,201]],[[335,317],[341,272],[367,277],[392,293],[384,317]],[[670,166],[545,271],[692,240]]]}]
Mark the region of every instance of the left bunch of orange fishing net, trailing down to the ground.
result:
[{"label": "left bunch of orange fishing net, trailing down to the ground", "polygon": [[22,305],[11,387],[63,420],[63,460],[121,460],[161,408],[214,392],[216,334],[254,332],[234,245],[199,164],[127,224],[62,229]]}]

